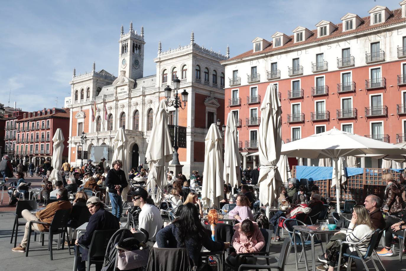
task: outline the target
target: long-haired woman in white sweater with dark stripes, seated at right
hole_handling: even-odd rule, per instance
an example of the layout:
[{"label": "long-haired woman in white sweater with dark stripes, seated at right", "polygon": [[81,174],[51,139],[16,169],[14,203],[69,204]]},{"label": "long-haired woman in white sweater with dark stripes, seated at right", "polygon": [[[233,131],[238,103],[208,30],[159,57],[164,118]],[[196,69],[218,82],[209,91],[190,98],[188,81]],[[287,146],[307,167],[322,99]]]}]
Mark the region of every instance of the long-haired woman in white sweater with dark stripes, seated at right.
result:
[{"label": "long-haired woman in white sweater with dark stripes, seated at right", "polygon": [[[354,206],[352,219],[350,225],[348,226],[348,229],[341,230],[341,232],[336,232],[335,234],[344,233],[345,237],[343,236],[343,241],[358,242],[366,236],[370,235],[374,230],[375,228],[371,222],[371,219],[369,218],[367,209],[362,205],[356,205]],[[365,241],[363,241],[362,243],[356,245],[358,250],[362,254],[360,256],[365,255],[370,241],[371,236],[369,236],[369,238],[366,238]],[[343,253],[346,251],[347,253],[352,253],[355,251],[355,249],[344,244],[342,251]],[[330,249],[326,249],[326,253],[318,257],[318,260],[323,264],[318,266],[317,269],[320,271],[334,271],[335,264],[338,262],[339,252],[339,247],[335,246],[331,247]]]}]

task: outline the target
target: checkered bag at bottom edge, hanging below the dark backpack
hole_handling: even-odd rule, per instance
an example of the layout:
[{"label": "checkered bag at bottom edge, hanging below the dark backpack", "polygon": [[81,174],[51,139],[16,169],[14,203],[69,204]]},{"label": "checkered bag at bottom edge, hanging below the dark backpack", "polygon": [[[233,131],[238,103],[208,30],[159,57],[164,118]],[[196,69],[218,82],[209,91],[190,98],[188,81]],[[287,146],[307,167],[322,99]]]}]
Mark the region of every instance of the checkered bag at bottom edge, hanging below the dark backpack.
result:
[{"label": "checkered bag at bottom edge, hanging below the dark backpack", "polygon": [[117,268],[120,270],[129,270],[147,265],[149,248],[142,250],[119,251]]}]

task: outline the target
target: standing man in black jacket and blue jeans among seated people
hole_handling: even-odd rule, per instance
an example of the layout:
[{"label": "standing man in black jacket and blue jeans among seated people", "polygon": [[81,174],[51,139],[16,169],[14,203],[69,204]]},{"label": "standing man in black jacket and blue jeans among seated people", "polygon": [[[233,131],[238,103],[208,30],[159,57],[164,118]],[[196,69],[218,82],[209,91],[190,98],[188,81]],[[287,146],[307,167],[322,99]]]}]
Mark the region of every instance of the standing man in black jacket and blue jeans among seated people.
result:
[{"label": "standing man in black jacket and blue jeans among seated people", "polygon": [[111,213],[120,219],[123,212],[123,202],[121,200],[121,192],[127,187],[127,173],[121,170],[123,161],[115,160],[113,168],[107,171],[106,186],[108,187],[108,195],[111,201]]}]

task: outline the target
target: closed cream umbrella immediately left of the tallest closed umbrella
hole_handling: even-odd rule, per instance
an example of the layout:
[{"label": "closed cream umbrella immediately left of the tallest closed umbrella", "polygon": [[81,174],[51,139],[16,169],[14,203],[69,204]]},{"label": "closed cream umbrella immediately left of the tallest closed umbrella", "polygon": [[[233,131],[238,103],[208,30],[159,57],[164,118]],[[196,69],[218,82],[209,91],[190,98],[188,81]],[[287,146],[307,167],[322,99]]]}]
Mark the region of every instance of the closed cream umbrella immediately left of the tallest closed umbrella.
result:
[{"label": "closed cream umbrella immediately left of the tallest closed umbrella", "polygon": [[234,187],[240,186],[240,152],[238,151],[237,127],[233,113],[227,116],[227,126],[224,134],[224,180],[231,184],[232,193]]}]

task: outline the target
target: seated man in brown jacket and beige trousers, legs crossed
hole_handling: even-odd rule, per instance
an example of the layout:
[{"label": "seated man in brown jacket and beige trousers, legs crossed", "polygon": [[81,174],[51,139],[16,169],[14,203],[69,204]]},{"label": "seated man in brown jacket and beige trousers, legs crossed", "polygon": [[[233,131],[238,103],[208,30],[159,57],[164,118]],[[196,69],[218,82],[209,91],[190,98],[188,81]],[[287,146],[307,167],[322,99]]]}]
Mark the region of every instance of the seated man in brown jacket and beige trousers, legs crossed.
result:
[{"label": "seated man in brown jacket and beige trousers, legs crossed", "polygon": [[[29,210],[23,210],[22,216],[26,219],[27,223],[25,225],[24,237],[21,243],[11,249],[12,251],[17,252],[25,252],[27,241],[28,241],[28,234],[29,234],[29,225],[30,221],[41,221],[46,223],[51,223],[52,219],[54,219],[54,215],[57,210],[72,210],[72,204],[69,202],[68,199],[68,191],[65,188],[59,189],[58,193],[56,194],[56,202],[52,202],[47,205],[44,210],[37,212],[35,215],[31,214]],[[32,224],[33,230],[39,230],[44,232],[49,229],[48,225],[33,223]]]}]

